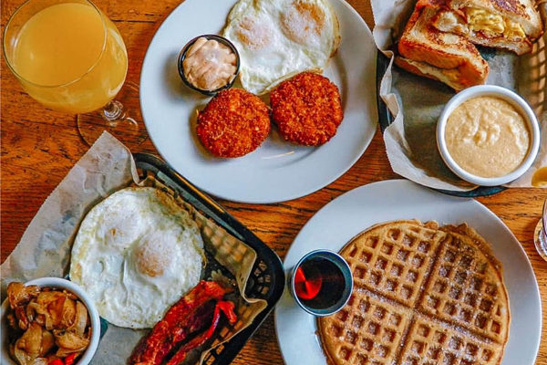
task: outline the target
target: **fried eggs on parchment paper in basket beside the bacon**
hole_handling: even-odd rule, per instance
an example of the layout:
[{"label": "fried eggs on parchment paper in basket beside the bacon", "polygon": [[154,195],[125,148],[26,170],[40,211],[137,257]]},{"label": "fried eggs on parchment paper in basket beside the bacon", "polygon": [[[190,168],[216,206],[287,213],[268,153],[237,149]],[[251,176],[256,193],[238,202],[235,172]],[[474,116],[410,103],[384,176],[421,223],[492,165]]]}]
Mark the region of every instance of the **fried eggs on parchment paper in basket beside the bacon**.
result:
[{"label": "fried eggs on parchment paper in basket beside the bacon", "polygon": [[151,328],[201,276],[197,224],[173,198],[126,188],[98,203],[80,224],[70,279],[120,327]]}]

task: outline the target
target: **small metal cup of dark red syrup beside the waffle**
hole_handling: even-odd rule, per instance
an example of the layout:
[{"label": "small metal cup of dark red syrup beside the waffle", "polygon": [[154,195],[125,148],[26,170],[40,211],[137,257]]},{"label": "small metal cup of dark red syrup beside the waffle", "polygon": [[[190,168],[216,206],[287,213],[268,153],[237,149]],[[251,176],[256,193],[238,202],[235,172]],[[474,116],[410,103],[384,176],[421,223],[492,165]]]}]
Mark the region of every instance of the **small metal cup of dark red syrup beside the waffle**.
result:
[{"label": "small metal cup of dark red syrup beside the waffle", "polygon": [[344,308],[351,296],[351,269],[335,252],[312,251],[294,266],[289,289],[306,312],[316,317],[330,316]]}]

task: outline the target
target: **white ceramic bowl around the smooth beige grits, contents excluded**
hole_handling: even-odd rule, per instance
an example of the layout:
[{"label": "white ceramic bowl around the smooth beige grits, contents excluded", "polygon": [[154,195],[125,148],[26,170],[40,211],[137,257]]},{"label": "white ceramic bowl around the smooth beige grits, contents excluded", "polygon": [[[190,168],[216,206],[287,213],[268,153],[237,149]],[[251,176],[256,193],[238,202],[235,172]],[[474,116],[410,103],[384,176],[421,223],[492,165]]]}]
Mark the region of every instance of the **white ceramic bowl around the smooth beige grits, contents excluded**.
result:
[{"label": "white ceramic bowl around the smooth beige grits, contents excluded", "polygon": [[[528,155],[524,161],[513,172],[499,177],[481,177],[463,170],[459,167],[459,164],[452,159],[452,156],[450,156],[445,141],[445,128],[449,115],[452,111],[468,99],[486,96],[496,97],[508,101],[516,110],[520,112],[524,120],[526,120],[528,129],[531,133],[531,145],[528,150]],[[437,146],[439,147],[440,156],[443,161],[449,166],[449,169],[456,173],[461,179],[478,185],[496,186],[504,183],[510,183],[521,177],[524,172],[530,169],[530,166],[532,166],[532,163],[534,162],[540,149],[540,127],[532,108],[530,108],[530,105],[528,105],[528,103],[519,95],[510,89],[501,88],[499,86],[479,85],[460,91],[449,100],[444,110],[442,110],[442,113],[440,113],[439,122],[437,124]]]}]

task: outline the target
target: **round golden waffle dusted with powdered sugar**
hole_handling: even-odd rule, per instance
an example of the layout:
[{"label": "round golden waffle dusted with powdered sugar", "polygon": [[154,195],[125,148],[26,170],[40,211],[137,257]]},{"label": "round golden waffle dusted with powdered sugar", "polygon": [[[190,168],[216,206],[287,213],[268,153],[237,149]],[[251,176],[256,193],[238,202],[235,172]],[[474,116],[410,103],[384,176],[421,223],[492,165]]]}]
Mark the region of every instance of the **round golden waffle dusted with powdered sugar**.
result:
[{"label": "round golden waffle dusted with powdered sugar", "polygon": [[340,254],[354,291],[345,308],[318,319],[330,363],[501,362],[510,323],[501,264],[467,224],[377,224]]}]

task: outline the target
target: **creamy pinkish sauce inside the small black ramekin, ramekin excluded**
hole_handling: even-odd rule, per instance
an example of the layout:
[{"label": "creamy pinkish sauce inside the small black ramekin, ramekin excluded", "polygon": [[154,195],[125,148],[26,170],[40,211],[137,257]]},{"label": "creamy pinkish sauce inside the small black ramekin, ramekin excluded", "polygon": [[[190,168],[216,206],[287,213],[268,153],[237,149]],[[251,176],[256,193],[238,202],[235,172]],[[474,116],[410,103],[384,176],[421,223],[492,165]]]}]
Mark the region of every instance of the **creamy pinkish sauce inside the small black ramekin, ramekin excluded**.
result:
[{"label": "creamy pinkish sauce inside the small black ramekin, ramekin excluded", "polygon": [[230,47],[204,36],[188,48],[182,62],[186,79],[203,90],[219,89],[232,81],[236,65],[237,57]]}]

